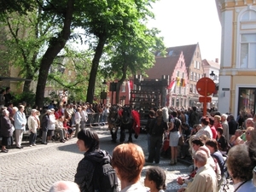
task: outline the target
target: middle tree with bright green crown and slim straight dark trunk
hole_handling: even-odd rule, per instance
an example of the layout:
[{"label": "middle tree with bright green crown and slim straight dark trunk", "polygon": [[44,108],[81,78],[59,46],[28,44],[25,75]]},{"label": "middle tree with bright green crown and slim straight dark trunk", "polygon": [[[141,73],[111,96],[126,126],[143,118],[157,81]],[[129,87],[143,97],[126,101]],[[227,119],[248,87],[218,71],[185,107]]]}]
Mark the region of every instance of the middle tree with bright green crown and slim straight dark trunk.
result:
[{"label": "middle tree with bright green crown and slim straight dark trunk", "polygon": [[[122,34],[131,35],[133,33],[143,33],[140,23],[152,18],[154,15],[148,10],[150,3],[155,1],[138,0],[138,1],[94,1],[86,3],[86,13],[84,26],[82,26],[87,34],[92,34],[95,41],[90,45],[95,49],[95,55],[92,60],[90,70],[89,86],[87,90],[87,102],[93,101],[95,93],[96,75],[99,68],[100,59],[104,51],[104,46],[109,44],[114,46],[118,42],[122,42]],[[96,14],[100,13],[100,14]],[[116,42],[114,43],[113,40]],[[148,47],[147,47],[148,49]],[[142,64],[142,63],[141,63]],[[111,72],[113,73],[113,72]]]}]

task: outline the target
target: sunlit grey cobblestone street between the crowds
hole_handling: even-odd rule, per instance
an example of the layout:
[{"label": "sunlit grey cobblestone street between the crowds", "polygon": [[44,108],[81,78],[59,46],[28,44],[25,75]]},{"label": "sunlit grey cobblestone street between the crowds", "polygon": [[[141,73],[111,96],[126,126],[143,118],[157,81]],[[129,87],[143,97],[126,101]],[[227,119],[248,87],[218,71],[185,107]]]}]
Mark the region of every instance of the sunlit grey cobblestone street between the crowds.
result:
[{"label": "sunlit grey cobblestone street between the crowds", "polygon": [[[102,149],[112,154],[113,148],[117,145],[111,143],[107,128],[94,128],[100,139]],[[127,136],[126,136],[127,137]],[[73,181],[79,160],[83,153],[79,152],[76,146],[76,138],[66,143],[38,144],[28,147],[23,143],[23,149],[11,148],[9,153],[0,154],[0,191],[1,192],[24,192],[24,191],[49,191],[52,183],[58,180]],[[140,145],[147,157],[147,136],[141,134],[134,143]],[[188,174],[188,166],[177,163],[176,166],[169,166],[169,159],[161,159],[158,166],[166,172],[166,191],[177,191],[180,188],[176,178]],[[141,182],[143,183],[146,169],[154,164],[145,165]]]}]

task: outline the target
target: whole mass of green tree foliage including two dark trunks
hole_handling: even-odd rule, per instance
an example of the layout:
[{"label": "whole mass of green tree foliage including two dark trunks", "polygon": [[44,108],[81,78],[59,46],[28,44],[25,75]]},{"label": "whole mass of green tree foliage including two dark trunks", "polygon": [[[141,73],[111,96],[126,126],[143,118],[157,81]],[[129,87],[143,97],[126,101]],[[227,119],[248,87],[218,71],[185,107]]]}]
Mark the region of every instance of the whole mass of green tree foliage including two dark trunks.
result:
[{"label": "whole mass of green tree foliage including two dark trunks", "polygon": [[[146,21],[153,18],[149,10],[154,0],[20,0],[13,5],[0,9],[1,18],[9,23],[12,39],[8,44],[15,44],[13,51],[15,65],[21,67],[24,77],[32,79],[38,75],[36,90],[36,104],[44,105],[44,89],[47,79],[54,80],[62,87],[78,94],[79,90],[86,91],[86,99],[93,102],[93,98],[101,90],[102,76],[105,78],[119,78],[121,83],[127,76],[142,72],[154,63],[154,50],[162,48],[161,38],[157,38],[158,31],[148,30]],[[7,3],[3,1],[2,3]],[[20,9],[16,6],[20,4]],[[0,3],[1,5],[1,3]],[[14,15],[26,15],[24,20],[16,19]],[[8,16],[6,16],[8,15]],[[9,17],[11,16],[11,17]],[[29,32],[20,38],[21,22]],[[30,25],[31,24],[31,25]],[[58,65],[56,59],[70,39],[82,39],[73,29],[82,28],[91,55],[83,55],[73,60],[77,79],[68,82],[61,73],[49,75],[51,66]],[[18,38],[17,38],[18,37]],[[159,46],[160,45],[160,46]],[[69,51],[70,53],[70,51]],[[73,55],[73,54],[71,54]],[[100,66],[102,60],[106,66]],[[83,58],[83,60],[81,59]],[[104,64],[103,64],[104,65]],[[89,73],[86,71],[89,70]],[[85,74],[84,74],[85,73]],[[108,75],[110,73],[111,75]]]}]

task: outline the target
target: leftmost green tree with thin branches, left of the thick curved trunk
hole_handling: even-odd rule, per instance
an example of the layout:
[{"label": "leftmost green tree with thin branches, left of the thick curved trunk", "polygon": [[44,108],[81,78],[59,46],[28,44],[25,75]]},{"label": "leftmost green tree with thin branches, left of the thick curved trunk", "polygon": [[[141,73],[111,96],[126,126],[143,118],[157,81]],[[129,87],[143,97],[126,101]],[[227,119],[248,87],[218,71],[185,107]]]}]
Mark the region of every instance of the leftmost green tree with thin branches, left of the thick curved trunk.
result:
[{"label": "leftmost green tree with thin branches, left of the thick curved trunk", "polygon": [[[38,9],[38,12],[40,10]],[[26,15],[9,14],[2,22],[7,38],[1,43],[2,60],[9,61],[12,66],[20,68],[19,76],[25,79],[35,80],[37,78],[40,50],[45,44],[45,37],[49,27],[42,29],[42,20],[38,12],[29,12]],[[23,91],[30,90],[31,81],[26,81]]]}]

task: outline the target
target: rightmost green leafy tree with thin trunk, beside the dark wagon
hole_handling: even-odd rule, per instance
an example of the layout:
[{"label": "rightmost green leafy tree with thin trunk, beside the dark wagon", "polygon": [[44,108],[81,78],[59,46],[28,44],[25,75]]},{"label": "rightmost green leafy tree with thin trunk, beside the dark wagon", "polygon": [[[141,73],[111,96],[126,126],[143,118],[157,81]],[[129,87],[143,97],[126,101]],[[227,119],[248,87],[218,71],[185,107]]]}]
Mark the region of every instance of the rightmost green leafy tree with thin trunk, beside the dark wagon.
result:
[{"label": "rightmost green leafy tree with thin trunk, beside the dark wagon", "polygon": [[116,102],[119,103],[119,90],[125,79],[135,74],[144,74],[144,71],[154,65],[155,52],[165,52],[163,39],[157,37],[159,31],[155,28],[149,30],[142,23],[137,22],[136,31],[130,34],[122,33],[122,41],[113,39],[112,46],[108,46],[110,52],[109,60],[104,71],[109,77],[109,71],[112,78],[118,79],[116,90]]}]

